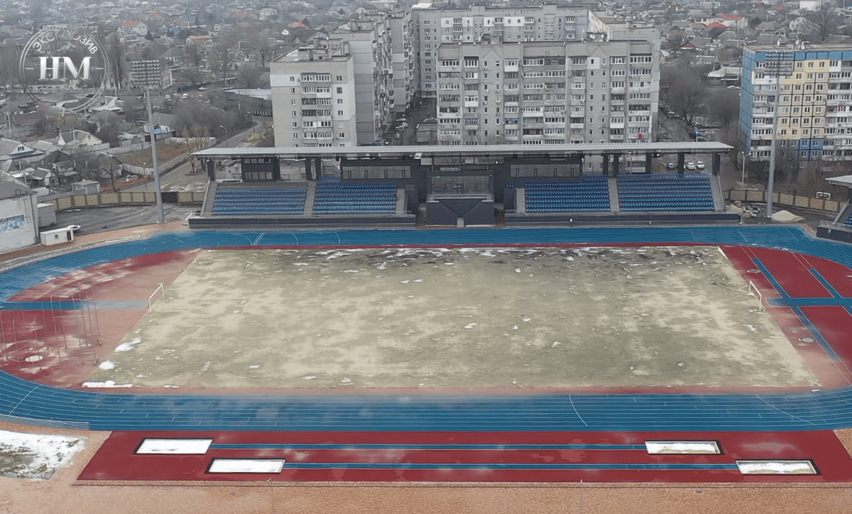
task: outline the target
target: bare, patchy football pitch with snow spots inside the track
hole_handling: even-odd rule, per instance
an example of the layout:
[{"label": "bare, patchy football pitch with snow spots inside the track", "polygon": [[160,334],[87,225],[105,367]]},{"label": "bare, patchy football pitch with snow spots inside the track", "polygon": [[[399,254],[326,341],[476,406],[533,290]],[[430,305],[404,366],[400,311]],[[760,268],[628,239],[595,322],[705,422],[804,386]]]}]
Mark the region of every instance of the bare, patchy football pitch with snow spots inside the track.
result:
[{"label": "bare, patchy football pitch with snow spots inside the track", "polygon": [[715,246],[203,251],[90,380],[816,384]]}]

